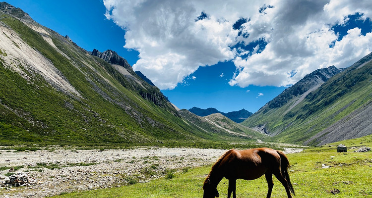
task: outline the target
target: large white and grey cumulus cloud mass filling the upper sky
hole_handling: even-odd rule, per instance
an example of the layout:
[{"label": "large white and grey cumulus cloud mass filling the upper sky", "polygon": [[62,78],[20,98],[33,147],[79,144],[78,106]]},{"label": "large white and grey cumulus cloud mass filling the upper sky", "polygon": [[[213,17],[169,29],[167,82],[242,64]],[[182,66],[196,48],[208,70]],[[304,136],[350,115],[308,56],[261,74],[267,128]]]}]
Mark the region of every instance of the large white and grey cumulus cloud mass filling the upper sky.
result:
[{"label": "large white and grey cumulus cloud mass filling the upper sky", "polygon": [[333,25],[371,0],[104,0],[106,17],[125,30],[133,65],[160,89],[174,89],[199,66],[233,61],[231,86],[287,86],[315,69],[346,67],[371,52],[372,33],[338,38]]}]

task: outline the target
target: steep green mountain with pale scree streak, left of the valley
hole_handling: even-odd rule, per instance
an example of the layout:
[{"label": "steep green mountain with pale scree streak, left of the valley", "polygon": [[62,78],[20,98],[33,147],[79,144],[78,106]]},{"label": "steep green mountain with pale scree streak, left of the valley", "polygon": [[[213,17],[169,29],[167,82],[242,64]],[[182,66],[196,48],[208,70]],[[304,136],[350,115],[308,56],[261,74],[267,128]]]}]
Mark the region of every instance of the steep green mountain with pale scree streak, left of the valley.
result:
[{"label": "steep green mountain with pale scree streak, left of the valley", "polygon": [[0,143],[238,140],[185,120],[115,51],[91,53],[0,2]]}]

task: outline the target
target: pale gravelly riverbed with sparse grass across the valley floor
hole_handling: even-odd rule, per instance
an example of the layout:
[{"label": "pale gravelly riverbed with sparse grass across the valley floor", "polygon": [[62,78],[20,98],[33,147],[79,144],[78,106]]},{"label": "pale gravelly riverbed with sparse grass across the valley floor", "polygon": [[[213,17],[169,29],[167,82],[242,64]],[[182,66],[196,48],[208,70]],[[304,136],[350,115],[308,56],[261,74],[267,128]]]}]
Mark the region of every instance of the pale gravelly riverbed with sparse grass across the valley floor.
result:
[{"label": "pale gravelly riverbed with sparse grass across the valley floor", "polygon": [[[287,152],[299,152],[291,148]],[[115,188],[147,182],[168,172],[209,165],[226,150],[201,148],[134,148],[80,150],[48,148],[36,151],[0,150],[0,178],[28,178],[32,185],[0,182],[0,197],[42,198],[65,192]],[[9,176],[14,173],[14,175]],[[1,180],[0,180],[1,181]],[[17,186],[22,183],[17,184]]]}]

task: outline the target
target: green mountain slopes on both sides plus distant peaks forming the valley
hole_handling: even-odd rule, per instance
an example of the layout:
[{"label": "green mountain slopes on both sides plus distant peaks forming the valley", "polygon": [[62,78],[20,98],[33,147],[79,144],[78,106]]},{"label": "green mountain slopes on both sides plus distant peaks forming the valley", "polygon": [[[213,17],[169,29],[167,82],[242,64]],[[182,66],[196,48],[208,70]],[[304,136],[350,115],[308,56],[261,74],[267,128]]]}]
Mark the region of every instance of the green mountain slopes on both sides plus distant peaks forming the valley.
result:
[{"label": "green mountain slopes on both sides plus distant peaks forming the valley", "polygon": [[82,49],[0,2],[0,143],[320,146],[367,136],[371,60],[369,54],[346,69],[318,69],[254,114],[180,110],[115,51]]}]

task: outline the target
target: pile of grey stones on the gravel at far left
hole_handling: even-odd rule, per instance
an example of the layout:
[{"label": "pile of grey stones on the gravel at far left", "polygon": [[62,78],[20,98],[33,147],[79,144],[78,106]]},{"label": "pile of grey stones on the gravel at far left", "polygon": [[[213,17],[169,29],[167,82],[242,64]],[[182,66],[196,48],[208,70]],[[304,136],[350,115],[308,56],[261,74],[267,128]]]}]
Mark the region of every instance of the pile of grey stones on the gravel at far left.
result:
[{"label": "pile of grey stones on the gravel at far left", "polygon": [[30,173],[19,172],[8,177],[0,175],[0,187],[31,186],[37,183],[38,181],[32,178]]}]

